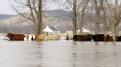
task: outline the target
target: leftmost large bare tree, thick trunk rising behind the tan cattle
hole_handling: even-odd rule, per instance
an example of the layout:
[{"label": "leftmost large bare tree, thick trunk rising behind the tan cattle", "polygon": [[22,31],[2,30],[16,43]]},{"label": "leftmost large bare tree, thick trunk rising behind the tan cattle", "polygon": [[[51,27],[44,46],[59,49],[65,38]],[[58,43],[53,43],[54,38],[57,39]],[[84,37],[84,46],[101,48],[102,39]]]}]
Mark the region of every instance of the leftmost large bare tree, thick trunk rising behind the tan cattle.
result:
[{"label": "leftmost large bare tree, thick trunk rising behind the tan cattle", "polygon": [[12,7],[16,13],[34,23],[36,34],[42,33],[42,0],[15,0]]}]

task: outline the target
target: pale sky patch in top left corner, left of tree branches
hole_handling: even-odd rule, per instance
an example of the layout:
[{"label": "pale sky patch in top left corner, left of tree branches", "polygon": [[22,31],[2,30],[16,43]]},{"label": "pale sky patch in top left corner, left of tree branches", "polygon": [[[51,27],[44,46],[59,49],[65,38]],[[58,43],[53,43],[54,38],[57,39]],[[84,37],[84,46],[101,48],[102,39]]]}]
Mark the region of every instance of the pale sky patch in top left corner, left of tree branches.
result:
[{"label": "pale sky patch in top left corner, left of tree branches", "polygon": [[15,14],[9,0],[0,0],[0,14]]}]

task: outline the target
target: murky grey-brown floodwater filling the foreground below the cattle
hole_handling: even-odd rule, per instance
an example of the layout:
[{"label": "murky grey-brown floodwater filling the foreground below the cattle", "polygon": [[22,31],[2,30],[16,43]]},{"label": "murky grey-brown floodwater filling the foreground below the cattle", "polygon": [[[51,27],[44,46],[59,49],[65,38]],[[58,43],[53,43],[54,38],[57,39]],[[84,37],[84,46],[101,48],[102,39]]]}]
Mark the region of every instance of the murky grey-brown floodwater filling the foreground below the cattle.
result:
[{"label": "murky grey-brown floodwater filling the foreground below the cattle", "polygon": [[121,67],[121,43],[0,40],[0,67]]}]

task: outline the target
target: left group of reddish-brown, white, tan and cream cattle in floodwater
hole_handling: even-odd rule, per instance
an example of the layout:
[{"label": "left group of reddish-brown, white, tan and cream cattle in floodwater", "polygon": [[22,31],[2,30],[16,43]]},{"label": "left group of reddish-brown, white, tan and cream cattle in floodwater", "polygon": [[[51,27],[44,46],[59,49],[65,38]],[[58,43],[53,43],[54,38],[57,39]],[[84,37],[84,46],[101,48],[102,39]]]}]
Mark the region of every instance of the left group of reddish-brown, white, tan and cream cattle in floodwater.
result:
[{"label": "left group of reddish-brown, white, tan and cream cattle in floodwater", "polygon": [[66,39],[66,35],[61,37],[59,35],[34,35],[34,34],[13,34],[8,33],[7,37],[10,41],[24,41],[24,40],[38,40],[38,41],[46,41],[46,40],[60,40],[60,39]]}]

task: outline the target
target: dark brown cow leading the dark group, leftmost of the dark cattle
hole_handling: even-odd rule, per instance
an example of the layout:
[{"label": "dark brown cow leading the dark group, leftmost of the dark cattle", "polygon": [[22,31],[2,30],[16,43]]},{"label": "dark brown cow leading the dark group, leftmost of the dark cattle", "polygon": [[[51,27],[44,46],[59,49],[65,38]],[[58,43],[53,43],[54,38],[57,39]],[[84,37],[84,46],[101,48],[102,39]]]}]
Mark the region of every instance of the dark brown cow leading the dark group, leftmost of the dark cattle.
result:
[{"label": "dark brown cow leading the dark group, leftmost of the dark cattle", "polygon": [[91,41],[91,35],[87,34],[87,35],[75,35],[73,36],[73,40],[74,41]]}]

